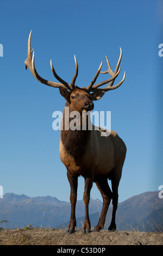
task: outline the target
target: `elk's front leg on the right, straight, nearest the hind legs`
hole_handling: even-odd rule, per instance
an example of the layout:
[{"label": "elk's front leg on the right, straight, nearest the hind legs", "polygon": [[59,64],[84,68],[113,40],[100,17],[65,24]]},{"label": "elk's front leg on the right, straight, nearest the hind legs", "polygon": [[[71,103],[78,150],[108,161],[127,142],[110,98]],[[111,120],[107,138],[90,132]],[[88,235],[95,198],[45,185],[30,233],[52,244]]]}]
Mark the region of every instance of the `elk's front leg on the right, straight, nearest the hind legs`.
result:
[{"label": "elk's front leg on the right, straight, nearest the hind legs", "polygon": [[91,223],[89,219],[89,202],[90,202],[90,192],[93,184],[93,175],[85,178],[85,187],[84,187],[84,195],[83,200],[85,204],[85,219],[84,225],[82,229],[82,234],[90,233],[91,231]]}]

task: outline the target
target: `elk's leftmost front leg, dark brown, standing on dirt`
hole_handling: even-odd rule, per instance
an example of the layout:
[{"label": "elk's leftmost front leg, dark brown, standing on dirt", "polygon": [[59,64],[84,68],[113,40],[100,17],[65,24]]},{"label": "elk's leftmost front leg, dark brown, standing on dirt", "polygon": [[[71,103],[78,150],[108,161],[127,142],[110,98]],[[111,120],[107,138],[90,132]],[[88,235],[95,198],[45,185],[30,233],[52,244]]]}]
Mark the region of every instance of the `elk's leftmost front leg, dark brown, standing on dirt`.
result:
[{"label": "elk's leftmost front leg, dark brown, standing on dirt", "polygon": [[71,202],[71,218],[70,223],[66,229],[66,233],[74,233],[76,223],[76,202],[77,202],[77,188],[78,188],[78,176],[73,176],[67,170],[67,178],[70,182],[71,192],[70,192],[70,202]]}]

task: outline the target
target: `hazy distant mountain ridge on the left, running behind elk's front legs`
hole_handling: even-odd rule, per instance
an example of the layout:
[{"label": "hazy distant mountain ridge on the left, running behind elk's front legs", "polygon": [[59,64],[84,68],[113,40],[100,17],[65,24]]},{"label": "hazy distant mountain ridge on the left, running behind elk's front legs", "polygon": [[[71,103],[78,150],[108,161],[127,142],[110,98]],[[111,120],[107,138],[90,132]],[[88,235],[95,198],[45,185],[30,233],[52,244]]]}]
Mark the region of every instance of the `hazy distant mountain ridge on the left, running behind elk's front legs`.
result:
[{"label": "hazy distant mountain ridge on the left, running behind elk's front legs", "polygon": [[[90,214],[101,210],[100,200],[90,200]],[[0,199],[0,221],[7,220],[7,227],[22,228],[33,224],[35,227],[57,227],[70,219],[70,202],[60,201],[56,197],[28,197],[24,194],[17,195],[6,193]],[[84,202],[78,200],[76,216],[84,215]],[[5,224],[4,224],[5,226]],[[1,224],[2,227],[2,224]]]}]

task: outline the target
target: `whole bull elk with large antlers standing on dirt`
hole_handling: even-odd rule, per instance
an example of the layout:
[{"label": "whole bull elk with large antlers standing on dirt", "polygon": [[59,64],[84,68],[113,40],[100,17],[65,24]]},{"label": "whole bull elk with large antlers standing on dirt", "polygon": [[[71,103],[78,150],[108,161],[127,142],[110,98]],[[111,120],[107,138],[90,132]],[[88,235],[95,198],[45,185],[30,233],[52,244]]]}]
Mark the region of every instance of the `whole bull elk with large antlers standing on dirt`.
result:
[{"label": "whole bull elk with large antlers standing on dirt", "polygon": [[[98,190],[101,192],[103,198],[103,208],[101,216],[99,217],[98,224],[96,225],[94,230],[99,231],[104,227],[105,217],[111,199],[113,208],[112,220],[109,230],[115,230],[115,215],[118,203],[118,185],[121,179],[123,163],[126,157],[126,145],[115,131],[110,131],[110,135],[108,136],[101,136],[103,135],[104,130],[102,130],[100,127],[97,128],[92,125],[92,130],[82,130],[82,122],[86,122],[87,124],[87,121],[90,120],[89,115],[83,115],[82,113],[87,113],[91,111],[93,109],[93,101],[101,99],[105,92],[116,89],[123,83],[125,73],[121,82],[113,86],[115,78],[120,72],[119,66],[122,58],[122,50],[120,48],[120,58],[118,59],[115,72],[111,70],[108,58],[106,57],[106,61],[108,63],[108,70],[101,72],[101,63],[95,77],[93,78],[89,86],[87,86],[87,88],[79,88],[75,86],[76,78],[78,76],[78,63],[76,60],[76,56],[74,56],[76,71],[72,78],[71,84],[65,82],[56,74],[52,61],[51,69],[53,75],[60,83],[47,81],[40,77],[39,74],[37,74],[34,65],[34,51],[31,51],[30,46],[31,34],[32,31],[29,34],[27,59],[24,62],[26,65],[26,69],[28,67],[30,72],[32,72],[34,77],[39,82],[46,84],[47,86],[59,88],[60,94],[66,99],[66,107],[68,107],[69,109],[69,114],[71,114],[72,111],[78,111],[80,113],[79,121],[81,129],[73,131],[71,129],[63,129],[61,130],[60,138],[60,159],[67,168],[67,178],[70,182],[71,187],[71,218],[66,231],[67,233],[73,233],[76,227],[75,209],[77,202],[78,176],[80,175],[82,175],[85,179],[83,196],[85,204],[85,220],[82,233],[89,233],[91,229],[91,224],[89,220],[89,201],[90,191],[93,182],[96,183]],[[95,84],[99,72],[101,72],[102,74],[109,73],[111,78],[101,83]],[[104,84],[108,85],[104,88],[99,88]],[[63,124],[65,124],[65,110],[62,119],[64,120]],[[68,122],[70,123],[70,121],[71,118],[69,115]],[[108,185],[108,179],[111,180],[112,191],[110,190],[110,187]]]}]

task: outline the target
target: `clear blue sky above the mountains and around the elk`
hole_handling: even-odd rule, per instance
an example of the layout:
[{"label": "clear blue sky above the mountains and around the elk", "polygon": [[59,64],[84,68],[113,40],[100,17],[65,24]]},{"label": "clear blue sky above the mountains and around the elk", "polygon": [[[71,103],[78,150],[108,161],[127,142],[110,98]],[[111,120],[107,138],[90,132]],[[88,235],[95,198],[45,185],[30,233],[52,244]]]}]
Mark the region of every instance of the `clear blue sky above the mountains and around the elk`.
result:
[{"label": "clear blue sky above the mountains and around the elk", "polygon": [[[56,81],[52,59],[58,75],[71,82],[76,54],[79,87],[90,84],[101,61],[106,70],[105,55],[115,69],[122,48],[117,82],[124,71],[126,80],[95,102],[94,110],[111,111],[111,129],[127,145],[119,201],[158,190],[163,184],[163,57],[158,55],[163,43],[162,9],[162,1],[154,0],[0,1],[0,185],[4,194],[70,198],[66,168],[59,157],[60,131],[52,129],[52,114],[62,111],[65,99],[58,89],[39,83],[25,70],[31,29],[37,72]],[[106,76],[99,75],[97,82]],[[78,199],[83,192],[84,179],[79,178]],[[102,199],[95,184],[91,197]]]}]

